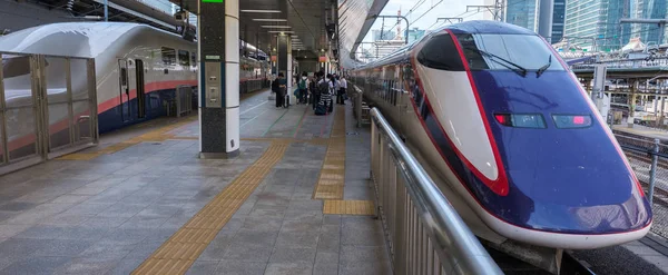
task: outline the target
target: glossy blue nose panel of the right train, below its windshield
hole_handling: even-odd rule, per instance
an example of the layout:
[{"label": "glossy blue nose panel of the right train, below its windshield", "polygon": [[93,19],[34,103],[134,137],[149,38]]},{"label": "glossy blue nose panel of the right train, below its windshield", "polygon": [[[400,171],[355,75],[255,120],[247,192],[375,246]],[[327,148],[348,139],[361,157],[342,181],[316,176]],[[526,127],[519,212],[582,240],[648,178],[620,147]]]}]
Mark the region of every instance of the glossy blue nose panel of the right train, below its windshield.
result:
[{"label": "glossy blue nose panel of the right train, below its windshield", "polygon": [[473,76],[488,118],[532,114],[543,121],[533,128],[490,125],[510,188],[507,197],[487,200],[499,217],[524,228],[573,234],[631,232],[651,224],[649,203],[626,157],[568,72]]}]

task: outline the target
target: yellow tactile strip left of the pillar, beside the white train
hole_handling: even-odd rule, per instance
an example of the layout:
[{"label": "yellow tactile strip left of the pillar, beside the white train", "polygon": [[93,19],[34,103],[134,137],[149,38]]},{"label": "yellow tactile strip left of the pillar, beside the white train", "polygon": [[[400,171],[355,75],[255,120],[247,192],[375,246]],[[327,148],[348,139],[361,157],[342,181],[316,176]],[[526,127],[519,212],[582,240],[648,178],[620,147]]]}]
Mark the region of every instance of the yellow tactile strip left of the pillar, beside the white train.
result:
[{"label": "yellow tactile strip left of the pillar, beside the white train", "polygon": [[[128,148],[130,146],[134,146],[134,145],[137,145],[140,143],[165,141],[167,139],[193,139],[193,137],[176,137],[176,136],[169,134],[169,131],[175,130],[187,124],[190,124],[195,120],[197,120],[197,116],[189,116],[187,118],[179,120],[178,122],[174,122],[174,124],[167,125],[165,127],[160,127],[159,129],[146,132],[141,136],[130,138],[122,143],[110,145],[110,146],[105,147],[97,151],[75,153],[75,154],[65,155],[62,157],[59,157],[58,159],[61,159],[61,160],[90,160],[90,159],[97,158],[101,155],[109,155],[109,154],[120,151],[125,148]],[[195,139],[197,139],[197,138],[195,137]]]}]

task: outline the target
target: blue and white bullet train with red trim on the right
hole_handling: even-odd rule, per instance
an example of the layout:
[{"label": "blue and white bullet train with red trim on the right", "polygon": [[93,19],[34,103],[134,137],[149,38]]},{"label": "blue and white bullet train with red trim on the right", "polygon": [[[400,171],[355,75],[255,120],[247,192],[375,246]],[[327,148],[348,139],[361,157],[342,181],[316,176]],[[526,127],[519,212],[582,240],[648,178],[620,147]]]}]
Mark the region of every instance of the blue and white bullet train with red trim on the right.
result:
[{"label": "blue and white bullet train with red trim on the right", "polygon": [[534,32],[451,24],[351,75],[483,239],[591,249],[648,233],[619,145]]}]

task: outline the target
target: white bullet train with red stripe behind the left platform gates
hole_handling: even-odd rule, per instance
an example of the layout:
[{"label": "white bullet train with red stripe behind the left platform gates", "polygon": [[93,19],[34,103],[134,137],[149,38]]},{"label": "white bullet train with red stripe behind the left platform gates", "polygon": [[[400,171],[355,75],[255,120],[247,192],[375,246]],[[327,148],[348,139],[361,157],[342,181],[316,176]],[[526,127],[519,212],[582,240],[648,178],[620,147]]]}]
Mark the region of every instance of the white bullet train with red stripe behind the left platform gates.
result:
[{"label": "white bullet train with red stripe behind the left platform gates", "polygon": [[[100,132],[165,116],[177,87],[197,87],[197,43],[145,24],[45,24],[1,37],[0,51],[94,58]],[[65,79],[62,66],[47,66],[49,92],[66,89],[65,81],[60,81]],[[246,81],[266,78],[262,61],[242,58],[240,67],[243,87],[247,87]],[[81,73],[86,73],[85,66],[72,66],[73,95],[86,91],[86,78],[75,77]],[[17,98],[29,98],[29,71],[6,77],[4,89],[17,92]],[[193,92],[196,104],[196,90]],[[50,114],[50,119],[62,119],[65,115]]]}]

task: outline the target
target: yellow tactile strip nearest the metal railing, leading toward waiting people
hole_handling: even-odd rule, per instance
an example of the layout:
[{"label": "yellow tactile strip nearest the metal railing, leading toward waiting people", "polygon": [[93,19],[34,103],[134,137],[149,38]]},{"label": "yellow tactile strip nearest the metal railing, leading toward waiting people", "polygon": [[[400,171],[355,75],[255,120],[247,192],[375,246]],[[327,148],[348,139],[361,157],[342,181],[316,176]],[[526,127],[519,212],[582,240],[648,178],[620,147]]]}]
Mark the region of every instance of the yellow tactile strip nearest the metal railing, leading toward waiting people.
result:
[{"label": "yellow tactile strip nearest the metal railing, leading toward waiting people", "polygon": [[317,185],[313,190],[314,199],[343,199],[345,184],[345,109],[336,107],[334,126],[327,140],[327,153]]}]

